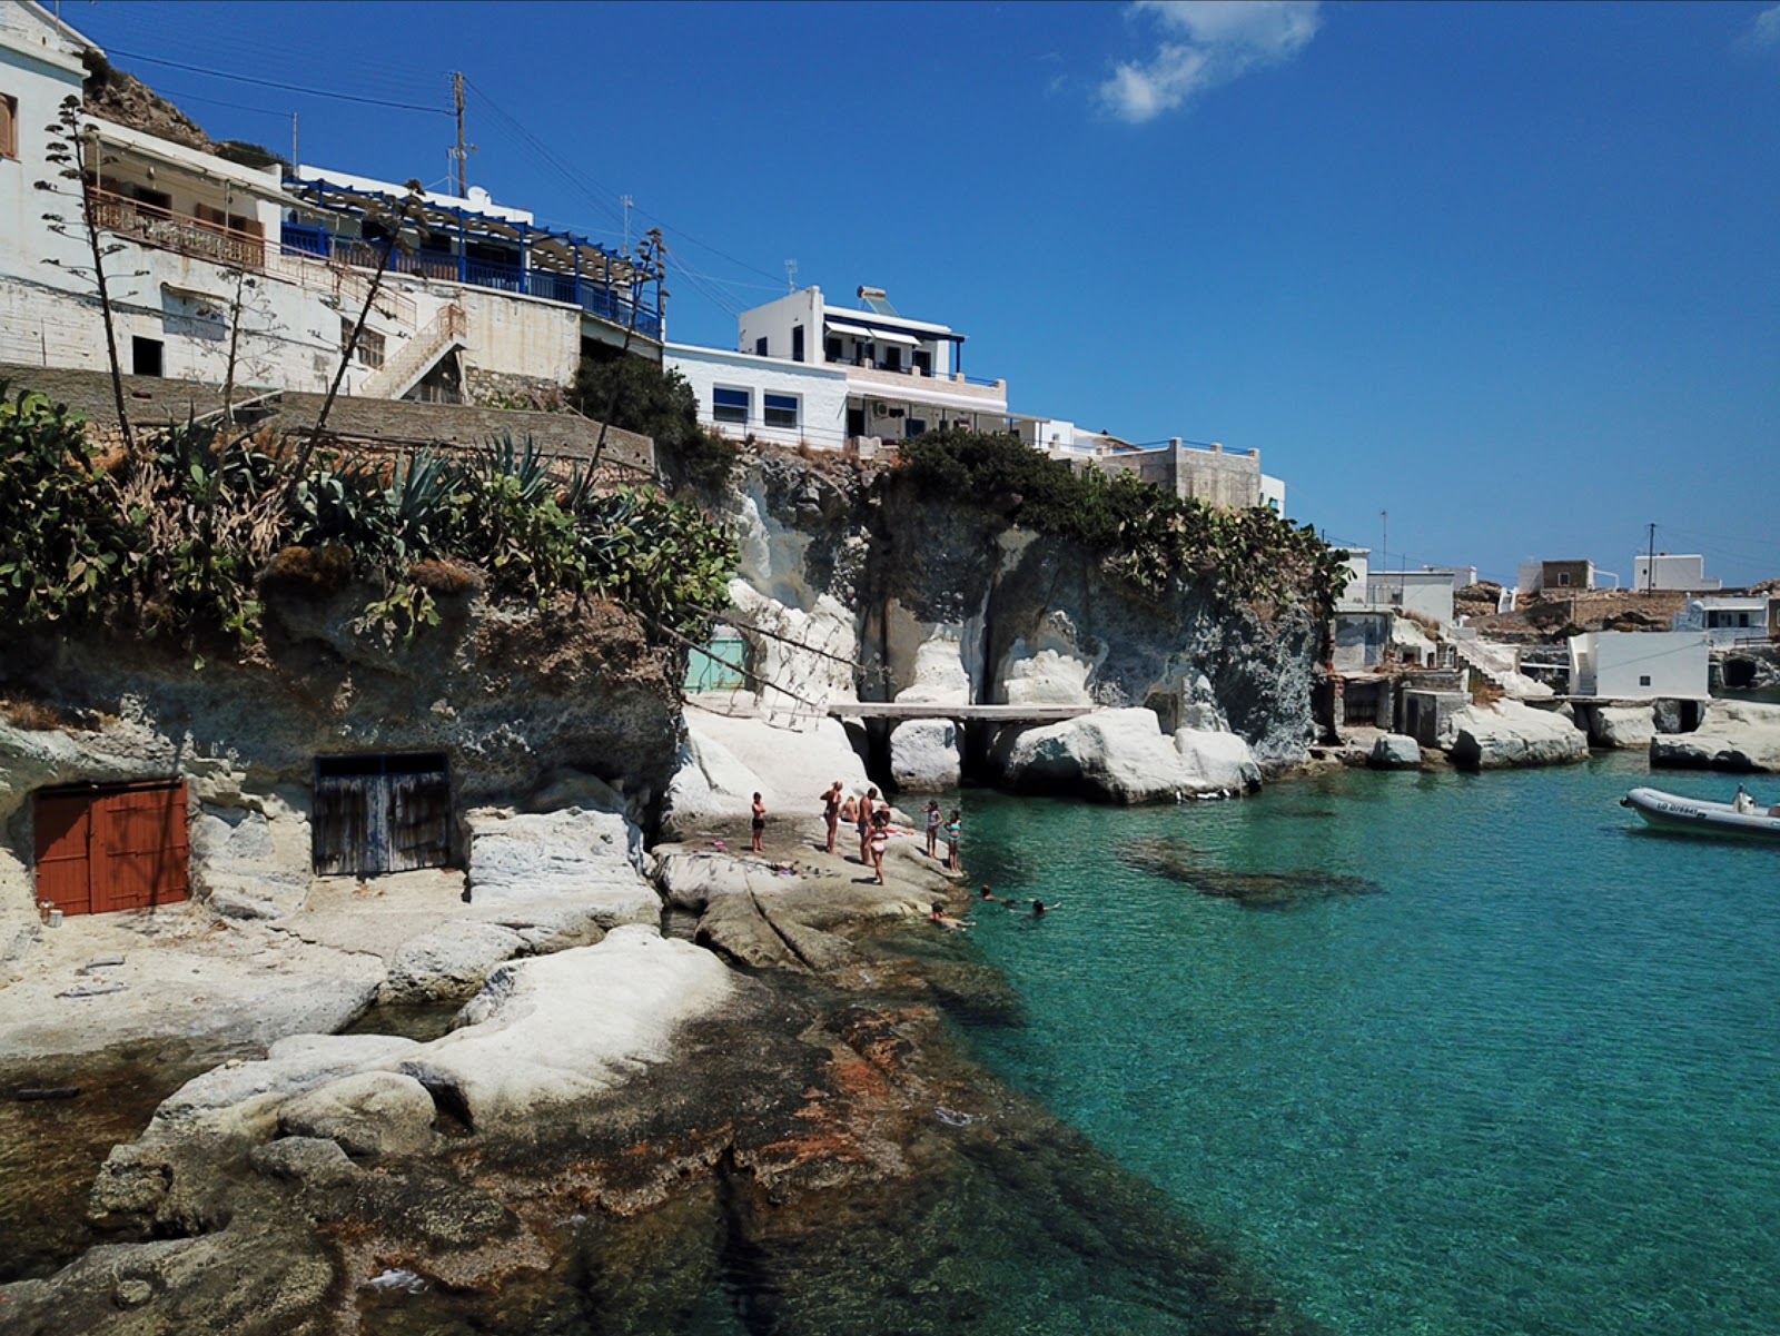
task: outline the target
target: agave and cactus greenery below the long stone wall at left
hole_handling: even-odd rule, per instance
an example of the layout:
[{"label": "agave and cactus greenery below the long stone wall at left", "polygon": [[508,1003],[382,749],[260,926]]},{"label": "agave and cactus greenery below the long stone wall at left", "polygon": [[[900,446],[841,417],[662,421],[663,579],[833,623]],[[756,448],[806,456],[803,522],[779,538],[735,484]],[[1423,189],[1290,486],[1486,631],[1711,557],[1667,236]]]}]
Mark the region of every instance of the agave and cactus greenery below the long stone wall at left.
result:
[{"label": "agave and cactus greenery below the long stone wall at left", "polygon": [[0,384],[0,612],[249,644],[265,589],[361,580],[365,623],[406,635],[440,621],[441,594],[475,587],[534,607],[611,598],[655,633],[698,639],[728,601],[735,543],[705,512],[648,487],[596,491],[529,441],[317,452],[301,473],[297,459],[199,423],[100,452],[66,407]]}]

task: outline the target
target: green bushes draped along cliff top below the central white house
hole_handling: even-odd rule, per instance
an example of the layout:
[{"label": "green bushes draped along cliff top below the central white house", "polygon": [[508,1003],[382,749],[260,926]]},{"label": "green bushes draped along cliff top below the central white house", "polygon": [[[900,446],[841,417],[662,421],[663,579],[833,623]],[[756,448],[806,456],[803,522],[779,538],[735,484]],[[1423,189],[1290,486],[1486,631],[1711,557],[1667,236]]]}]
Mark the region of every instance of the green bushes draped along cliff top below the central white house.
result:
[{"label": "green bushes draped along cliff top below the central white house", "polygon": [[1150,594],[1203,583],[1226,601],[1305,603],[1326,612],[1342,553],[1274,511],[1180,500],[1130,473],[1077,473],[1015,436],[936,431],[899,448],[894,479],[922,496],[974,498],[1009,523],[1102,553],[1109,573]]}]

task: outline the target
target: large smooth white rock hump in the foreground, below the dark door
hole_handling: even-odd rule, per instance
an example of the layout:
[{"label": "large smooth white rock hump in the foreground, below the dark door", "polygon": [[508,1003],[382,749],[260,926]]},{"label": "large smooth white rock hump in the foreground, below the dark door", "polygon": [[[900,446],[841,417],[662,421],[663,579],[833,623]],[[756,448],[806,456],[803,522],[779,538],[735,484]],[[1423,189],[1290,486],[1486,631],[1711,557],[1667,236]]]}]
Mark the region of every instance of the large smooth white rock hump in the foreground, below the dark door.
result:
[{"label": "large smooth white rock hump in the foreground, below the dark door", "polygon": [[477,1131],[523,1135],[532,1119],[570,1112],[666,1060],[675,1030],[733,989],[714,954],[619,927],[598,946],[502,966],[463,1009],[463,1028],[411,1053],[400,1071],[450,1091]]}]

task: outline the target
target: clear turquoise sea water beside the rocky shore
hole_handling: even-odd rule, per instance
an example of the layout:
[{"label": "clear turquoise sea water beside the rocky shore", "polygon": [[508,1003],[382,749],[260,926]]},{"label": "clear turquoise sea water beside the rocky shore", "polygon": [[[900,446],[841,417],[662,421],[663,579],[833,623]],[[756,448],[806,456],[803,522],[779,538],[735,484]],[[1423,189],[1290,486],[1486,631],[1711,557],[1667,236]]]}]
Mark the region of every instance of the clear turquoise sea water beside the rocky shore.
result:
[{"label": "clear turquoise sea water beside the rocky shore", "polygon": [[972,793],[974,879],[1061,907],[977,905],[1025,1023],[968,1039],[1344,1336],[1773,1336],[1780,849],[1645,834],[1636,783]]}]

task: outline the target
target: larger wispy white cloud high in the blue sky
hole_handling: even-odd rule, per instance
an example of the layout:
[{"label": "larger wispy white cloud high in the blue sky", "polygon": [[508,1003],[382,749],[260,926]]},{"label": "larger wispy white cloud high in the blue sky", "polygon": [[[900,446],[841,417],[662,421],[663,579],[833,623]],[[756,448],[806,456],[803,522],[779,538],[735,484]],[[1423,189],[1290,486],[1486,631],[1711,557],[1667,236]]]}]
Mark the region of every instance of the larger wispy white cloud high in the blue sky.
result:
[{"label": "larger wispy white cloud high in the blue sky", "polygon": [[1120,64],[1100,85],[1102,105],[1132,125],[1290,60],[1321,27],[1317,0],[1137,0],[1130,12],[1162,30],[1153,55]]}]

